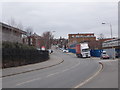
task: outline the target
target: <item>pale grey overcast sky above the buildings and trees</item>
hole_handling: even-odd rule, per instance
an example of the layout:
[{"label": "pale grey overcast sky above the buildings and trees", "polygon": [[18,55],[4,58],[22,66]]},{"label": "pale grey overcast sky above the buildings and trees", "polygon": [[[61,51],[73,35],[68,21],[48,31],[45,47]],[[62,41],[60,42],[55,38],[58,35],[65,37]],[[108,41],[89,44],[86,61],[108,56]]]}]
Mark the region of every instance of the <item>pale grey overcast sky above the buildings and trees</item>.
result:
[{"label": "pale grey overcast sky above the buildings and trees", "polygon": [[[37,34],[55,31],[55,37],[67,38],[69,33],[93,32],[110,37],[118,36],[117,2],[5,2],[2,3],[2,22],[14,18],[24,29],[31,26]],[[101,24],[102,22],[108,24]]]}]

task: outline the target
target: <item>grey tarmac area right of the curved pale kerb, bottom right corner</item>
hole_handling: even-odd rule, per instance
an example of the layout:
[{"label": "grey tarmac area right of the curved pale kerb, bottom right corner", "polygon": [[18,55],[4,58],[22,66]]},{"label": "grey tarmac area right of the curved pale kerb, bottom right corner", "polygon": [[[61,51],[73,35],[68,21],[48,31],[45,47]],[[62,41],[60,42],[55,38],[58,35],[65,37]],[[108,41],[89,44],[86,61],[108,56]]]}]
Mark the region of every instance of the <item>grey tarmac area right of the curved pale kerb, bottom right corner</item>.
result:
[{"label": "grey tarmac area right of the curved pale kerb, bottom right corner", "polygon": [[104,60],[102,63],[102,72],[81,88],[118,88],[118,60]]}]

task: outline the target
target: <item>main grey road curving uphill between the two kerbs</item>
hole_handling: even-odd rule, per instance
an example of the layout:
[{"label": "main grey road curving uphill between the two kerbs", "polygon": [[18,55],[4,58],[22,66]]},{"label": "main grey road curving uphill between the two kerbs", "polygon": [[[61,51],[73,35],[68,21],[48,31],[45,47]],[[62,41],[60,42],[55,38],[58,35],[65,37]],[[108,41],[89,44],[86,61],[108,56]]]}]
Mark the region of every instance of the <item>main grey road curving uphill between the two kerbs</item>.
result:
[{"label": "main grey road curving uphill between the two kerbs", "polygon": [[2,78],[3,88],[74,88],[100,68],[97,60],[80,59],[56,50],[64,62],[50,68]]}]

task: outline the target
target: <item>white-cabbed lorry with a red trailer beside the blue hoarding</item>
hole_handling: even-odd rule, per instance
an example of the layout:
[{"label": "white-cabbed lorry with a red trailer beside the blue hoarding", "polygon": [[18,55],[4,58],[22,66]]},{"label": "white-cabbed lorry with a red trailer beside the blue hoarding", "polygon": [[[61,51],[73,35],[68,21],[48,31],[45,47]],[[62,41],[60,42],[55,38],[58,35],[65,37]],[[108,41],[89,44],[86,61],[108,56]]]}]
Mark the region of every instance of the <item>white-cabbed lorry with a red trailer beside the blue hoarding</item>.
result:
[{"label": "white-cabbed lorry with a red trailer beside the blue hoarding", "polygon": [[90,49],[88,43],[76,44],[76,56],[79,58],[90,58]]}]

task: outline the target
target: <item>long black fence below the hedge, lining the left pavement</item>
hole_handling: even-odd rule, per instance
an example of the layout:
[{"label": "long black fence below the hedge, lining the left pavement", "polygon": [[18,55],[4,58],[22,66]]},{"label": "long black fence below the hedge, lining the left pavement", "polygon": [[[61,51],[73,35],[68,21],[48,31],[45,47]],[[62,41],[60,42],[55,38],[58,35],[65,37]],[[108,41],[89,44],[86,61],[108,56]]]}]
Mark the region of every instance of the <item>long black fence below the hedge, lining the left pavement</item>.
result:
[{"label": "long black fence below the hedge, lining the left pavement", "polygon": [[33,64],[48,59],[48,51],[34,49],[2,49],[2,68]]}]

